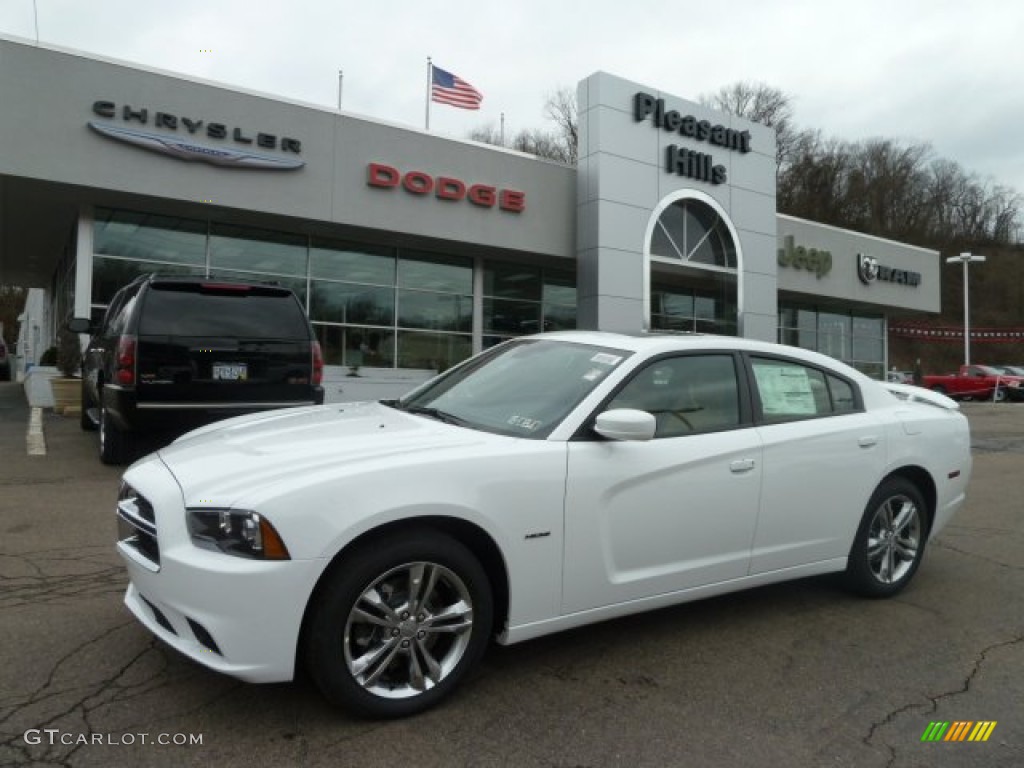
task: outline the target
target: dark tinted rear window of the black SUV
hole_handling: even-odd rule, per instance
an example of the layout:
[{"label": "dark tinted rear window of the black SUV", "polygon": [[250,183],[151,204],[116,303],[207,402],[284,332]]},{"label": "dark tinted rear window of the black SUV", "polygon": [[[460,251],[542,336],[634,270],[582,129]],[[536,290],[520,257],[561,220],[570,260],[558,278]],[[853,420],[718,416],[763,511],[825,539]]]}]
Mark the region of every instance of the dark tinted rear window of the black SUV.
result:
[{"label": "dark tinted rear window of the black SUV", "polygon": [[306,315],[287,289],[217,283],[154,283],[138,333],[304,339]]}]

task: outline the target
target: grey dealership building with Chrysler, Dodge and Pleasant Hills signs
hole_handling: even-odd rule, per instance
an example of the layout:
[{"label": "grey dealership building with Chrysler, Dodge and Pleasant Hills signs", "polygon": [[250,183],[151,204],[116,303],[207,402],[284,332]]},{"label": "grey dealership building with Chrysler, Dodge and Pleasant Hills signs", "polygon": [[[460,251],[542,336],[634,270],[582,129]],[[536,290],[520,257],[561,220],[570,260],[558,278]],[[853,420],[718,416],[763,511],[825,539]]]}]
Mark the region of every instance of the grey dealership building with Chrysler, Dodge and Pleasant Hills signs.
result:
[{"label": "grey dealership building with Chrysler, Dodge and Pleasant Hills signs", "polygon": [[940,309],[939,254],[777,213],[774,131],[659,85],[583,80],[570,167],[0,38],[0,284],[43,289],[23,369],[158,271],[292,288],[338,392],[572,328],[883,376],[891,319]]}]

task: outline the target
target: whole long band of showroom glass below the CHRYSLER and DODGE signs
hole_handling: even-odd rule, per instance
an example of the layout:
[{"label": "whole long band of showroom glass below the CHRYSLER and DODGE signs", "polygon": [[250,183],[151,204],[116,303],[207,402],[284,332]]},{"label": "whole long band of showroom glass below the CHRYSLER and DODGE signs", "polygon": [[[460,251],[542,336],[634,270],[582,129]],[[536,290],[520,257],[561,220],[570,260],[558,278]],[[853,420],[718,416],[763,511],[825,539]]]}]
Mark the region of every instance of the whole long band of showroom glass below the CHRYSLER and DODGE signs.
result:
[{"label": "whole long band of showroom glass below the CHRYSLER and DODGE signs", "polygon": [[[109,209],[94,243],[95,315],[148,272],[269,281],[295,291],[330,366],[443,371],[472,353],[468,257]],[[575,327],[571,268],[495,262],[490,275],[485,344]]]}]

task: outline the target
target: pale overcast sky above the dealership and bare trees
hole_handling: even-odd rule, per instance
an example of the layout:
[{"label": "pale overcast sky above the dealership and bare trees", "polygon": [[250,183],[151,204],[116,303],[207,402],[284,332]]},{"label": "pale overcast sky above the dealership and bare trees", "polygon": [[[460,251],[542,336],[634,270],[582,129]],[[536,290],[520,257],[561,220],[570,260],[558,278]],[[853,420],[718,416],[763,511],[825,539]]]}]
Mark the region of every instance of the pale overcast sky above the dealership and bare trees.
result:
[{"label": "pale overcast sky above the dealership and bare trees", "polygon": [[[696,100],[790,94],[800,128],[928,142],[1024,194],[1021,0],[0,0],[0,34],[423,127],[426,61],[483,93],[433,104],[465,137],[551,128],[544,102],[605,71]],[[4,104],[0,109],[10,109]]]}]

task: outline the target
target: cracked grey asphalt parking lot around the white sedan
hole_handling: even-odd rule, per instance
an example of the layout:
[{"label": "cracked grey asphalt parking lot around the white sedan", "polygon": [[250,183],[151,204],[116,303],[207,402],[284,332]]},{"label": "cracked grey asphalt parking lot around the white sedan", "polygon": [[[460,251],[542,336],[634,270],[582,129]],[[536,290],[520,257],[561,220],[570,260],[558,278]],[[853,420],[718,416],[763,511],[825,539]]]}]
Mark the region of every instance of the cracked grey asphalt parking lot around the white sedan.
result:
[{"label": "cracked grey asphalt parking lot around the white sedan", "polygon": [[[0,766],[1024,765],[1024,404],[964,411],[969,503],[899,597],[813,579],[495,646],[441,708],[379,723],[153,639],[122,605],[119,470],[52,414],[28,456],[0,384]],[[996,726],[922,741],[936,721]]]}]

